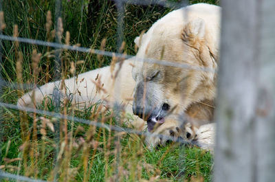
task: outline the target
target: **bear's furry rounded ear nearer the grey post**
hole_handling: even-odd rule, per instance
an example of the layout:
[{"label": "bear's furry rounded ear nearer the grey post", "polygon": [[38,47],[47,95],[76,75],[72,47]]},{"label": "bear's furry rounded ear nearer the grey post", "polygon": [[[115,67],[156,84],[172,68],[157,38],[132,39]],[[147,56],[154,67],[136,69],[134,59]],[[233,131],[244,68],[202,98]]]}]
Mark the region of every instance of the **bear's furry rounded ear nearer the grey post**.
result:
[{"label": "bear's furry rounded ear nearer the grey post", "polygon": [[205,22],[203,19],[194,19],[186,24],[182,32],[182,38],[184,41],[190,40],[190,38],[203,38],[206,32]]}]

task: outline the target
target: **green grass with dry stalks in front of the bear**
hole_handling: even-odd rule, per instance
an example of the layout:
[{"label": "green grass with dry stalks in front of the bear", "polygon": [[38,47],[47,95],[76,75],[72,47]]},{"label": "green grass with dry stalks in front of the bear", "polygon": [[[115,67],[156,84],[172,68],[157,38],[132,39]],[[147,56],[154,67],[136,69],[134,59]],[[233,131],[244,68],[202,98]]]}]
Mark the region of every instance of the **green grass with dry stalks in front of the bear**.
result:
[{"label": "green grass with dry stalks in front of the bear", "polygon": [[[94,106],[88,108],[87,110],[93,109]],[[61,109],[63,110],[63,109]],[[91,113],[93,112],[75,112],[74,115],[81,118],[91,118]],[[107,113],[106,115],[111,115]],[[102,116],[98,116],[102,117]],[[41,131],[38,131],[36,140],[37,147],[34,150],[31,146],[34,142],[33,139],[28,141],[30,146],[25,146],[22,149],[23,139],[21,138],[21,130],[19,124],[19,116],[17,111],[10,111],[10,113],[5,114],[5,118],[11,118],[12,120],[5,120],[3,122],[3,133],[6,133],[3,137],[3,144],[1,146],[3,161],[2,165],[6,165],[4,168],[7,172],[19,172],[22,175],[29,175],[31,177],[39,177],[40,179],[49,179],[52,170],[54,170],[54,158],[56,155],[56,143],[54,138],[54,133],[47,128],[47,135],[43,137]],[[50,117],[48,117],[52,120]],[[91,118],[94,119],[94,118]],[[112,119],[115,122],[115,119]],[[32,117],[28,116],[29,128],[33,127]],[[64,121],[58,121],[54,124],[60,124]],[[109,124],[109,122],[107,122]],[[39,122],[41,124],[41,122]],[[84,171],[83,170],[83,155],[85,155],[85,146],[81,146],[80,141],[87,141],[89,131],[91,127],[85,124],[73,124],[69,122],[68,130],[73,130],[74,137],[72,141],[76,145],[72,149],[72,154],[69,157],[69,168],[73,170],[74,179],[76,181],[83,181]],[[80,131],[79,128],[82,128]],[[33,129],[33,128],[32,128]],[[89,161],[88,168],[93,162],[93,167],[90,167],[89,181],[104,181],[105,175],[105,165],[107,165],[107,177],[112,177],[115,170],[115,154],[111,154],[107,160],[104,157],[104,136],[111,136],[111,152],[115,152],[115,133],[109,131],[100,130],[99,128],[94,128],[95,133],[93,140],[98,141],[100,144],[97,149],[89,146],[89,152],[87,161]],[[33,133],[32,133],[33,135]],[[64,133],[63,133],[64,135]],[[99,136],[99,137],[98,137]],[[32,137],[32,136],[30,136]],[[106,138],[106,141],[108,137]],[[61,138],[61,141],[64,141]],[[211,168],[212,168],[212,155],[209,152],[200,150],[199,148],[180,148],[176,144],[171,144],[170,146],[165,146],[158,148],[157,150],[148,150],[144,146],[142,139],[136,135],[124,134],[120,137],[121,152],[120,152],[120,166],[123,167],[124,172],[127,174],[125,179],[122,181],[137,181],[137,171],[141,171],[142,179],[150,179],[159,176],[160,179],[170,179],[172,181],[177,181],[181,177],[184,179],[191,179],[192,177],[203,177],[205,181],[210,181],[211,179]],[[61,144],[59,144],[61,146]],[[36,152],[39,159],[35,159],[29,152]],[[95,153],[94,153],[95,152]],[[12,163],[6,163],[5,159],[21,158],[23,159],[24,153],[27,153],[27,161],[14,161]],[[87,154],[86,154],[87,155]],[[34,158],[34,159],[32,159]],[[93,159],[94,158],[94,159]],[[62,159],[66,161],[66,156],[63,154]],[[32,162],[34,160],[34,162]],[[35,163],[35,164],[34,164]],[[61,161],[62,163],[62,161]],[[137,164],[139,166],[137,166]],[[27,169],[22,166],[26,165]],[[65,165],[65,164],[63,164]],[[18,168],[11,168],[11,166],[21,166]],[[35,166],[35,168],[32,168]],[[60,167],[60,170],[63,167]],[[181,174],[184,172],[183,174]],[[63,177],[63,172],[59,172],[59,177]],[[181,175],[179,175],[181,174]]]}]

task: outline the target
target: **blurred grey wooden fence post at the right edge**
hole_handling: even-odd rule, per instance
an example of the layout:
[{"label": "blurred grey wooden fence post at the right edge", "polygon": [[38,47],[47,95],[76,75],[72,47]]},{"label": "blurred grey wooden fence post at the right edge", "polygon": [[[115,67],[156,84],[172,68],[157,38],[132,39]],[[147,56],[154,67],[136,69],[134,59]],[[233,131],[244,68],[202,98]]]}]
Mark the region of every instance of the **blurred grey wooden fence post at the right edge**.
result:
[{"label": "blurred grey wooden fence post at the right edge", "polygon": [[222,1],[214,181],[275,179],[275,1]]}]

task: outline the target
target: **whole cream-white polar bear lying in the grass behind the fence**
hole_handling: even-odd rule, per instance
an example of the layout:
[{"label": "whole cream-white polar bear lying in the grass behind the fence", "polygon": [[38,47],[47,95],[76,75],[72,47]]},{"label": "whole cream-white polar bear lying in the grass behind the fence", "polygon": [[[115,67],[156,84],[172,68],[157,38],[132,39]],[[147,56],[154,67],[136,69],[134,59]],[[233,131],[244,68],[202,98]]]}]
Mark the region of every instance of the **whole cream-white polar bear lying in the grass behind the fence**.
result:
[{"label": "whole cream-white polar bear lying in the grass behind the fence", "polygon": [[[57,88],[63,96],[73,93],[79,105],[120,103],[135,120],[146,121],[153,134],[213,144],[214,125],[209,123],[216,95],[220,14],[221,8],[206,3],[174,10],[135,38],[135,57],[67,79],[66,87],[61,81],[47,83],[23,95],[17,105],[39,104]],[[162,60],[174,64],[160,64]],[[166,139],[147,137],[146,142],[155,147]]]}]

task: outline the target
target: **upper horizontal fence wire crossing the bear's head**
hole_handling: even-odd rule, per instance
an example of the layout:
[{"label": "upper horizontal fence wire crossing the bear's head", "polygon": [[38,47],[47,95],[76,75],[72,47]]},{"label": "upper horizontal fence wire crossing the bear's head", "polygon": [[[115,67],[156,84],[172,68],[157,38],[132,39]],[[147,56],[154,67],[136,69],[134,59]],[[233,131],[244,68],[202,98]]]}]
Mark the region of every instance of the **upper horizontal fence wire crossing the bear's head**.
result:
[{"label": "upper horizontal fence wire crossing the bear's head", "polygon": [[179,67],[183,69],[192,69],[192,70],[197,70],[197,71],[206,71],[206,72],[215,72],[215,69],[208,68],[208,67],[195,67],[179,62],[170,62],[168,60],[156,60],[156,59],[151,59],[151,58],[138,58],[136,56],[130,56],[126,54],[120,54],[120,53],[115,53],[115,52],[106,52],[102,51],[99,49],[90,49],[87,47],[78,47],[76,45],[65,45],[65,44],[59,44],[59,43],[52,43],[52,42],[47,42],[47,41],[39,41],[36,39],[31,39],[31,38],[21,38],[21,37],[14,37],[14,36],[6,36],[6,35],[0,35],[0,39],[5,40],[5,41],[19,41],[21,43],[29,43],[29,44],[34,44],[34,45],[43,45],[47,47],[54,47],[58,49],[69,49],[72,51],[77,51],[77,52],[87,52],[90,54],[98,54],[102,56],[109,56],[109,57],[117,57],[117,58],[122,58],[122,59],[131,59],[131,60],[137,60],[141,62],[148,62],[151,64],[157,64],[157,65],[163,65],[167,67]]}]

